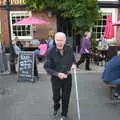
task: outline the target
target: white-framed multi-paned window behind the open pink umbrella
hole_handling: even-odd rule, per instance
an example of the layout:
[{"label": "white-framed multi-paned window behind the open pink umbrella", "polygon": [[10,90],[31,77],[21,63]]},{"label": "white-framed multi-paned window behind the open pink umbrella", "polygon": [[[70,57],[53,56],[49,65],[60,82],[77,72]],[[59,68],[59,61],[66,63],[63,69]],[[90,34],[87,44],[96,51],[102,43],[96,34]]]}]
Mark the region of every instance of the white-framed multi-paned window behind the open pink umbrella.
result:
[{"label": "white-framed multi-paned window behind the open pink umbrella", "polygon": [[31,14],[28,11],[14,11],[10,13],[12,40],[15,36],[23,40],[32,39],[32,25],[14,25],[17,21],[27,18],[30,15]]}]

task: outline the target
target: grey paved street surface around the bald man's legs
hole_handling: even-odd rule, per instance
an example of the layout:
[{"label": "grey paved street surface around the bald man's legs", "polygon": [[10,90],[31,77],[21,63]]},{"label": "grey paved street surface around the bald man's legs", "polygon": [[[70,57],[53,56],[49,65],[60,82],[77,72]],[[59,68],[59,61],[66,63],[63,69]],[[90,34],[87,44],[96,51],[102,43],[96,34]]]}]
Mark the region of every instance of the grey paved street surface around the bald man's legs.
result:
[{"label": "grey paved street surface around the bald man's legs", "polygon": [[[0,76],[0,120],[54,120],[49,76],[40,70],[39,73],[40,80],[34,84],[18,83],[16,75]],[[111,103],[109,89],[100,77],[100,70],[77,71],[81,120],[118,120],[120,117],[120,106]],[[73,81],[70,120],[77,120],[74,86]]]}]

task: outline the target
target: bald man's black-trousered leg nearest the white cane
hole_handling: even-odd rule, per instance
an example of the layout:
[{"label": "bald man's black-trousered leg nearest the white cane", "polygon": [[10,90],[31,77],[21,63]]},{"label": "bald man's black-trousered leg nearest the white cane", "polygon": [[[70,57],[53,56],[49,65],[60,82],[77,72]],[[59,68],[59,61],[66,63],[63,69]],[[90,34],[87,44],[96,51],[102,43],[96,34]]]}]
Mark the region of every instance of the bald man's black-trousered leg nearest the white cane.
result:
[{"label": "bald man's black-trousered leg nearest the white cane", "polygon": [[69,99],[72,87],[72,76],[69,75],[68,78],[63,81],[62,84],[62,116],[67,116],[68,113],[68,106],[69,106]]}]

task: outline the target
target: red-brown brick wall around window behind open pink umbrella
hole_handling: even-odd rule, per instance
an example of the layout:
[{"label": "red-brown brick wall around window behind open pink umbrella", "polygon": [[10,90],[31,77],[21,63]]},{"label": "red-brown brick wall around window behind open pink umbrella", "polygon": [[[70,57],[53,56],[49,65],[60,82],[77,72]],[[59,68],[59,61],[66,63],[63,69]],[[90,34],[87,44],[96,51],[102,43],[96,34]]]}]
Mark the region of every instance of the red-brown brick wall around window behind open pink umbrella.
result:
[{"label": "red-brown brick wall around window behind open pink umbrella", "polygon": [[[11,11],[24,11],[26,10],[24,6],[14,6],[12,7]],[[34,39],[47,39],[48,33],[50,30],[57,31],[57,24],[56,24],[56,17],[48,15],[48,12],[39,12],[33,11],[32,16],[37,18],[41,18],[43,20],[50,21],[49,25],[34,25],[36,31],[33,34]],[[1,18],[1,27],[2,27],[2,41],[5,46],[9,44],[9,33],[8,33],[8,18],[7,18],[7,11],[5,8],[0,8],[0,18]]]}]

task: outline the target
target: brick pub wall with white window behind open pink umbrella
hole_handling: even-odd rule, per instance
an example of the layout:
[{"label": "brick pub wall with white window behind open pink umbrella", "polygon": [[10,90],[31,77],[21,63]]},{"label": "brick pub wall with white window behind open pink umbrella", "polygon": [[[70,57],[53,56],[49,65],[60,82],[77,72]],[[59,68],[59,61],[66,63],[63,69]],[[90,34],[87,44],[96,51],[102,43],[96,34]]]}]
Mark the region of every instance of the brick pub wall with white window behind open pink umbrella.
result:
[{"label": "brick pub wall with white window behind open pink umbrella", "polygon": [[[34,39],[48,39],[49,34],[51,35],[54,31],[57,31],[56,16],[50,11],[28,11],[24,0],[8,0],[10,3],[8,15],[6,1],[0,0],[0,34],[5,46],[8,46],[10,37],[11,40],[14,40],[17,36],[20,41],[25,42]],[[50,24],[14,25],[17,21],[29,16],[49,21]]]}]

